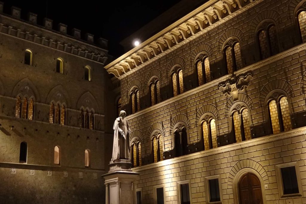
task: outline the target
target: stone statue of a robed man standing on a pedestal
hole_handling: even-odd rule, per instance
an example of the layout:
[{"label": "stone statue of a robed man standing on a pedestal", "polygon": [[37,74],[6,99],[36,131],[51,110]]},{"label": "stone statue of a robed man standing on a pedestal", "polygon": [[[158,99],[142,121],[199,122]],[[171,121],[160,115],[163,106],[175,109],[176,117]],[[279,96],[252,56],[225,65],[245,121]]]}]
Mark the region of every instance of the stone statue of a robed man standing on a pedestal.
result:
[{"label": "stone statue of a robed man standing on a pedestal", "polygon": [[117,159],[129,159],[129,136],[131,129],[128,121],[125,119],[126,113],[120,111],[119,117],[114,122],[114,144],[112,161]]}]

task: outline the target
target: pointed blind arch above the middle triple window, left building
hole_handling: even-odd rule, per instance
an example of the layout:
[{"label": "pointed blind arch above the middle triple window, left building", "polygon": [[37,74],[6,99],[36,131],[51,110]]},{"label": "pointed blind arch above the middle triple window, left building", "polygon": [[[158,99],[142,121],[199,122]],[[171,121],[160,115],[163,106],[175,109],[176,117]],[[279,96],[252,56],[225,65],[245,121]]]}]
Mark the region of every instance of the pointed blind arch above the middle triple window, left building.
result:
[{"label": "pointed blind arch above the middle triple window, left building", "polygon": [[52,100],[66,103],[70,107],[69,94],[62,85],[53,87],[47,95],[46,103],[50,104]]}]

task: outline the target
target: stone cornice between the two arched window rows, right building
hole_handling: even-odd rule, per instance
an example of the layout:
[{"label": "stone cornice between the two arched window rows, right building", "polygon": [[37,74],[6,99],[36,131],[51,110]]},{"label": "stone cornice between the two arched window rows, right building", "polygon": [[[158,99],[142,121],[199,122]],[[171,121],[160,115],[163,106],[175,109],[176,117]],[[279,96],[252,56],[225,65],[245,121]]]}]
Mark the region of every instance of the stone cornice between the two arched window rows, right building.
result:
[{"label": "stone cornice between the two arched window rows, right building", "polygon": [[[299,52],[300,50],[304,50],[304,49],[306,49],[306,43],[303,43],[301,45],[295,46],[295,47],[293,47],[293,48],[291,48],[289,50],[283,51],[283,52],[281,52],[279,54],[276,54],[276,55],[274,55],[272,57],[269,57],[267,59],[264,59],[262,61],[256,62],[256,63],[254,63],[252,65],[244,67],[243,69],[239,69],[238,71],[235,71],[234,74],[235,75],[240,75],[240,74],[243,74],[243,73],[248,72],[248,71],[253,71],[253,70],[259,69],[259,68],[261,68],[261,67],[263,67],[265,65],[269,65],[271,62],[280,60],[280,59],[282,59],[285,56],[295,54],[295,53]],[[200,91],[204,91],[205,89],[208,90],[208,88],[210,88],[210,87],[218,86],[218,84],[220,82],[228,80],[230,78],[231,78],[231,75],[222,76],[221,78],[213,80],[213,81],[211,81],[209,83],[205,83],[205,84],[203,84],[200,87],[196,87],[196,88],[194,88],[192,90],[189,90],[189,91],[186,91],[186,92],[184,92],[184,93],[182,93],[180,95],[177,95],[175,97],[169,98],[166,101],[160,102],[160,103],[158,103],[158,104],[156,104],[154,106],[148,107],[148,108],[143,109],[143,110],[141,110],[139,112],[136,112],[136,113],[134,113],[132,115],[129,115],[126,118],[128,120],[131,120],[131,119],[136,118],[136,117],[138,117],[138,116],[140,116],[140,115],[142,115],[144,113],[148,113],[148,112],[150,112],[152,110],[159,109],[159,108],[161,108],[163,106],[166,106],[166,105],[168,105],[170,103],[173,103],[173,102],[175,102],[177,100],[186,98],[187,96],[191,96],[191,95],[193,95],[195,93],[198,93]],[[221,91],[220,91],[220,94],[222,94]]]}]

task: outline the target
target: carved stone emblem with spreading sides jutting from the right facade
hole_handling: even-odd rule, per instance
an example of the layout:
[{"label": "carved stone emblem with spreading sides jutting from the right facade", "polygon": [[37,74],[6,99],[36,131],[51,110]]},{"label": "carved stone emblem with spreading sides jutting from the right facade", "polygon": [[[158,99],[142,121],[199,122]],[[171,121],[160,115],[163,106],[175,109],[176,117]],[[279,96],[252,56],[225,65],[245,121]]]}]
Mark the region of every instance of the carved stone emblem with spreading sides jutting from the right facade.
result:
[{"label": "carved stone emblem with spreading sides jutting from the right facade", "polygon": [[227,96],[233,96],[234,101],[238,100],[238,92],[248,88],[249,82],[252,78],[252,72],[246,72],[239,76],[232,77],[224,82],[219,83],[218,90]]}]

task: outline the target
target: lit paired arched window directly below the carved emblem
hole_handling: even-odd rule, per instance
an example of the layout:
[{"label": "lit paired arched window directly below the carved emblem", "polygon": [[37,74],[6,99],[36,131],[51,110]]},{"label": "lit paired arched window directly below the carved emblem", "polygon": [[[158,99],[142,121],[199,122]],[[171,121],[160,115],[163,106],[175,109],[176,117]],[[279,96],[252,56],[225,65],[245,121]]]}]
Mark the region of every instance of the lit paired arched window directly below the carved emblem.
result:
[{"label": "lit paired arched window directly below the carved emblem", "polygon": [[250,119],[247,108],[241,108],[239,111],[236,110],[233,112],[232,130],[235,135],[236,142],[252,139]]}]

